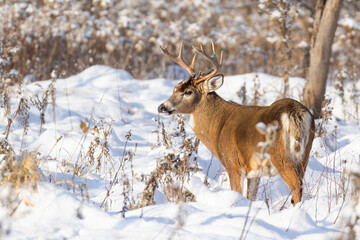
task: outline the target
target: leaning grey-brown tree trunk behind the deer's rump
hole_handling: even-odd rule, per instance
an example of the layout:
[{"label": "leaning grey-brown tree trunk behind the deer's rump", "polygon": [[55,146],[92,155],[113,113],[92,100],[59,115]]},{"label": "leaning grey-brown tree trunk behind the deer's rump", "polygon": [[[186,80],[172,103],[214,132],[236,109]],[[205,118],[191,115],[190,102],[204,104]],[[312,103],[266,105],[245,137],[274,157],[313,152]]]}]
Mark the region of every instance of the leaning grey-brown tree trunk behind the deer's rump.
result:
[{"label": "leaning grey-brown tree trunk behind the deer's rump", "polygon": [[310,66],[303,103],[319,118],[326,90],[331,46],[343,0],[318,0],[310,49]]}]

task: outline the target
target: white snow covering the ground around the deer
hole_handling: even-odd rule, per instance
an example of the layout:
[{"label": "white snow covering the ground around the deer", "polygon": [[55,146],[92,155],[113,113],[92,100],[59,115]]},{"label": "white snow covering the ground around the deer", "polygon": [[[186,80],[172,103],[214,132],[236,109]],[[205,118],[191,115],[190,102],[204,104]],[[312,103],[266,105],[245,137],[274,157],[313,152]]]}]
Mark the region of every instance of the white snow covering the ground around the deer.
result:
[{"label": "white snow covering the ground around the deer", "polygon": [[[157,159],[168,151],[158,144],[157,106],[171,95],[176,83],[166,79],[135,80],[125,71],[105,66],[93,66],[76,76],[58,79],[55,121],[49,98],[41,134],[39,111],[35,107],[29,110],[29,129],[24,141],[21,119],[13,123],[9,143],[17,152],[20,149],[38,151],[43,176],[37,192],[24,190],[23,193],[33,207],[22,202],[11,218],[5,214],[8,209],[0,207],[0,229],[10,229],[9,234],[3,233],[0,237],[329,239],[338,236],[342,230],[340,223],[345,219],[342,213],[338,218],[339,212],[350,206],[348,193],[342,207],[344,187],[348,186],[347,182],[342,185],[343,169],[360,161],[360,129],[354,120],[359,116],[351,100],[354,89],[351,84],[345,86],[345,102],[338,90],[330,86],[327,89],[327,98],[332,99],[328,106],[332,118],[323,123],[322,137],[314,140],[304,179],[303,201],[295,207],[290,204],[290,190],[278,176],[262,179],[258,200],[253,203],[231,191],[219,161],[200,144],[198,162],[203,170],[193,174],[186,183],[196,202],[169,203],[160,188],[155,194],[156,205],[123,212],[125,188],[115,173],[124,158],[129,157],[126,154],[124,157],[124,146],[125,153],[131,151],[135,155],[132,161],[124,163],[120,172],[129,176],[130,195],[132,201],[136,201],[145,186],[141,178],[146,178],[156,168]],[[271,104],[281,96],[282,80],[266,74],[227,76],[218,94],[241,102],[244,99],[240,100],[237,92],[244,83],[247,103],[253,100],[254,86],[259,93],[259,104]],[[359,83],[357,89],[360,89]],[[30,98],[38,94],[41,97],[49,84],[50,81],[42,81],[24,85],[20,94],[13,94],[13,111],[20,96]],[[303,79],[291,78],[291,96],[299,99],[303,86]],[[3,115],[1,108],[0,116]],[[160,120],[169,131],[174,131],[174,121],[166,117]],[[87,134],[80,128],[81,122],[90,128]],[[7,119],[1,118],[1,133],[6,125]],[[100,159],[96,169],[97,162],[84,161],[91,159],[86,154],[96,137],[100,145],[105,142],[106,129],[112,129],[107,136],[109,152]],[[131,141],[126,138],[129,131]],[[189,136],[193,135],[187,121],[186,131]],[[99,149],[101,147],[95,155]],[[73,177],[75,164],[84,168]],[[209,187],[203,184],[207,175]]]}]

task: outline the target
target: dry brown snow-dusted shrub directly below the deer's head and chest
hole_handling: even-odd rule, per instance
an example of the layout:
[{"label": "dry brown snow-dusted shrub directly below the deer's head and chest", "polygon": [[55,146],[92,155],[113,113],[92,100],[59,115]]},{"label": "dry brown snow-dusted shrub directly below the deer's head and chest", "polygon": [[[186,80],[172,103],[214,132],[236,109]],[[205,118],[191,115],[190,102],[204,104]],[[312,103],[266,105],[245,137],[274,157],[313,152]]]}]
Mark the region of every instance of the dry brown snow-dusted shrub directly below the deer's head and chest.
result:
[{"label": "dry brown snow-dusted shrub directly below the deer's head and chest", "polygon": [[[200,170],[197,164],[197,151],[199,139],[188,137],[184,126],[184,116],[175,117],[175,133],[169,134],[164,128],[164,123],[159,124],[161,131],[156,131],[162,136],[164,146],[170,150],[164,157],[157,159],[156,169],[147,177],[142,198],[137,207],[155,204],[154,194],[156,189],[164,193],[166,202],[195,201],[195,196],[185,188],[184,184],[192,173]],[[169,139],[174,145],[168,144]]]}]

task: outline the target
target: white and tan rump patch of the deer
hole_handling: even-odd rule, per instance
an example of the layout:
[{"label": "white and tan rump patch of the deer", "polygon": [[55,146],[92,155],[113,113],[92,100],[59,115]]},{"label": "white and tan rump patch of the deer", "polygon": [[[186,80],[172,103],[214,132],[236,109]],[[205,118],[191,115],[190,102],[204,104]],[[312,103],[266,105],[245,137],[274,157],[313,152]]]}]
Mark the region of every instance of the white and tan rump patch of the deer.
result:
[{"label": "white and tan rump patch of the deer", "polygon": [[305,111],[299,112],[297,115],[294,114],[294,116],[283,113],[281,122],[284,130],[286,154],[293,161],[302,161],[309,141],[311,115]]}]

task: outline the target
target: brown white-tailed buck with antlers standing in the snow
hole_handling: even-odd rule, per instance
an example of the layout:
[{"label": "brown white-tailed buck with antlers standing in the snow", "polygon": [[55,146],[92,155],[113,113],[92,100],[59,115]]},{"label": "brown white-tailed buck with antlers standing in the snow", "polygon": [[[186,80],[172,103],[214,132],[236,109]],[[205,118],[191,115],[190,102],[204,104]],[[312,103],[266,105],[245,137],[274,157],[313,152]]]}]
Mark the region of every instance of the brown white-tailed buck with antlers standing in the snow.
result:
[{"label": "brown white-tailed buck with antlers standing in the snow", "polygon": [[[185,68],[190,76],[174,87],[171,97],[162,103],[158,111],[164,114],[190,114],[190,125],[201,142],[220,160],[226,169],[231,188],[242,193],[243,179],[247,178],[247,197],[255,200],[261,175],[273,175],[274,171],[262,171],[251,163],[257,144],[265,140],[255,126],[259,122],[277,122],[278,137],[269,150],[271,166],[277,170],[292,191],[291,202],[301,201],[302,179],[309,160],[314,138],[314,119],[309,110],[292,99],[281,99],[270,106],[243,106],[225,101],[215,93],[224,81],[218,73],[222,65],[222,52],[218,61],[214,44],[210,57],[201,46],[193,46],[196,53],[214,69],[195,74],[196,53],[190,65],[182,58],[183,44],[178,56],[160,47],[172,61]],[[256,165],[256,164],[255,164]]]}]

